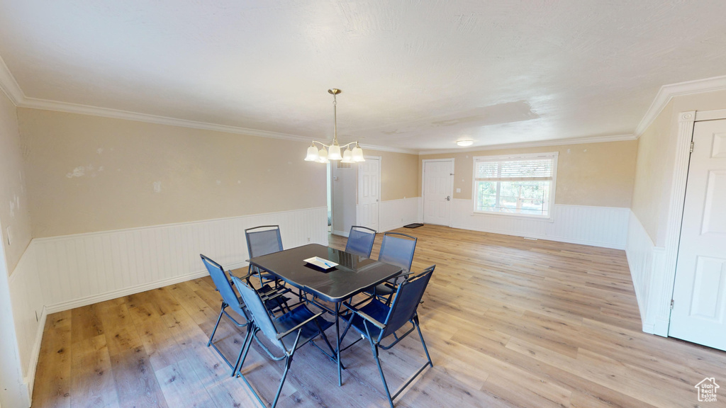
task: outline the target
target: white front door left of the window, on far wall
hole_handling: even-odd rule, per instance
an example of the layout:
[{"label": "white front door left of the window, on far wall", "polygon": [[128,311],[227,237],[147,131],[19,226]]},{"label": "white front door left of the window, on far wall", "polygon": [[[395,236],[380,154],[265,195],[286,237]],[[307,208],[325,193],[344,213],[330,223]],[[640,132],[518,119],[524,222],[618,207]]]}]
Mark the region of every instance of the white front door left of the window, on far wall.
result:
[{"label": "white front door left of the window, on far wall", "polygon": [[449,226],[454,159],[423,161],[423,222]]}]

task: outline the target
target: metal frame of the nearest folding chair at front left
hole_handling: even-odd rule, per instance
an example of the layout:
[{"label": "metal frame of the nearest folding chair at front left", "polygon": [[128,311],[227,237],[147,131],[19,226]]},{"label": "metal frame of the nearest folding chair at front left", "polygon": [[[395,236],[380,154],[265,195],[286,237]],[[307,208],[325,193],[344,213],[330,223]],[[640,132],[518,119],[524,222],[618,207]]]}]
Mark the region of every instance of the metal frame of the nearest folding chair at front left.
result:
[{"label": "metal frame of the nearest folding chair at front left", "polygon": [[[235,285],[237,285],[238,289],[240,290],[240,294],[242,295],[242,298],[245,300],[245,303],[248,303],[250,305],[248,311],[250,320],[248,322],[251,325],[251,329],[248,330],[248,335],[245,337],[245,344],[242,347],[242,355],[239,363],[235,367],[235,372],[237,372],[237,377],[242,378],[242,380],[247,384],[248,388],[250,388],[250,391],[253,393],[257,401],[263,406],[266,407],[266,404],[264,401],[262,401],[261,396],[258,394],[258,392],[253,388],[252,384],[250,384],[249,380],[245,377],[244,374],[242,374],[242,367],[245,364],[245,359],[247,359],[247,355],[250,351],[250,346],[252,346],[252,338],[255,338],[257,340],[257,343],[261,345],[261,341],[257,337],[258,332],[263,332],[263,334],[268,338],[268,340],[273,343],[278,348],[282,349],[284,354],[282,356],[274,356],[266,347],[263,347],[264,351],[273,359],[276,361],[280,361],[282,359],[285,359],[285,370],[282,372],[282,378],[280,379],[280,385],[277,386],[277,393],[275,393],[274,400],[272,401],[272,407],[274,408],[277,405],[277,401],[280,399],[280,393],[282,392],[282,386],[285,385],[285,380],[287,379],[287,372],[290,370],[290,365],[293,362],[293,356],[295,354],[295,351],[298,350],[298,348],[301,348],[306,343],[312,343],[315,347],[317,347],[320,351],[322,351],[325,355],[327,355],[330,359],[335,359],[335,351],[333,350],[333,346],[330,344],[330,341],[327,339],[327,336],[325,335],[325,329],[332,327],[332,322],[327,322],[327,327],[323,329],[320,326],[319,319],[322,317],[323,314],[327,313],[327,311],[323,310],[320,311],[317,314],[312,314],[312,311],[309,311],[311,313],[311,317],[304,320],[303,322],[298,323],[294,327],[291,327],[287,329],[285,332],[280,332],[277,330],[277,327],[274,325],[272,317],[269,316],[269,314],[264,314],[264,316],[256,316],[253,312],[253,309],[255,309],[255,306],[251,306],[253,304],[256,304],[257,310],[259,310],[260,306],[264,307],[264,304],[262,302],[262,299],[259,298],[258,293],[253,289],[253,287],[249,287],[248,285],[245,285],[245,282],[242,282],[237,277],[232,277],[233,282]],[[298,306],[298,308],[293,309],[293,311],[288,312],[287,314],[293,314],[295,311],[299,308],[305,308],[307,309],[307,306]],[[277,319],[284,318],[287,316],[287,314],[282,315],[282,317],[277,317]],[[264,321],[263,321],[264,319]],[[306,329],[306,327],[309,328],[309,323],[314,322],[315,327],[317,327],[317,334],[312,335],[309,338],[306,338],[303,340],[302,343],[300,343],[301,335],[303,333],[303,330]],[[269,330],[274,330],[274,338],[271,337],[272,333],[269,333]],[[285,343],[282,341],[283,338],[286,338],[288,335],[293,335],[297,332],[295,335],[295,341],[292,345],[292,347],[288,348],[285,346]],[[330,348],[330,354],[327,353],[327,351],[323,350],[318,346],[316,343],[314,343],[315,338],[318,336],[322,337],[323,340],[325,340],[325,343],[327,344],[327,347]]]}]

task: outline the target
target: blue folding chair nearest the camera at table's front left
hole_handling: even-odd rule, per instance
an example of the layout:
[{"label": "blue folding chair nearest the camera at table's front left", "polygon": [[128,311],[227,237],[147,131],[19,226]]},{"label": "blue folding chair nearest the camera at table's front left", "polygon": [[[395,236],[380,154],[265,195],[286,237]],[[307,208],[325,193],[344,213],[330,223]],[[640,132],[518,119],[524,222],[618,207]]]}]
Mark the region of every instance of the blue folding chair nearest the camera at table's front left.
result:
[{"label": "blue folding chair nearest the camera at table's front left", "polygon": [[[272,343],[272,345],[276,348],[280,348],[283,352],[282,356],[274,356],[274,354],[264,348],[270,358],[276,361],[285,359],[285,371],[282,372],[280,385],[277,387],[277,393],[272,401],[272,408],[274,408],[275,405],[277,405],[277,400],[280,399],[282,385],[285,384],[287,371],[290,370],[290,364],[293,362],[293,355],[298,348],[301,348],[306,343],[312,343],[314,346],[319,348],[320,351],[330,357],[330,359],[335,359],[333,356],[335,354],[333,346],[330,345],[330,341],[327,340],[324,333],[325,330],[333,325],[333,322],[328,322],[322,318],[322,315],[326,313],[325,311],[314,314],[310,309],[308,309],[307,305],[298,306],[280,317],[272,318],[269,314],[267,314],[261,298],[254,289],[245,285],[245,282],[242,282],[237,277],[232,277],[232,281],[234,282],[234,285],[237,286],[237,290],[240,291],[240,295],[242,295],[245,305],[247,305],[248,315],[251,319],[249,322],[252,325],[248,332],[253,333],[245,339],[245,346],[243,347],[244,353],[242,354],[242,360],[237,367],[237,376],[241,377],[242,380],[245,381],[245,384],[247,384],[250,391],[252,391],[257,401],[259,401],[263,407],[266,406],[265,403],[262,401],[261,397],[257,391],[255,391],[247,378],[245,378],[245,375],[242,374],[242,367],[245,365],[245,359],[250,351],[252,338],[258,340],[257,334],[262,332],[269,343]],[[330,348],[330,354],[311,341],[318,336],[321,336],[323,340],[325,340],[327,347]]]}]

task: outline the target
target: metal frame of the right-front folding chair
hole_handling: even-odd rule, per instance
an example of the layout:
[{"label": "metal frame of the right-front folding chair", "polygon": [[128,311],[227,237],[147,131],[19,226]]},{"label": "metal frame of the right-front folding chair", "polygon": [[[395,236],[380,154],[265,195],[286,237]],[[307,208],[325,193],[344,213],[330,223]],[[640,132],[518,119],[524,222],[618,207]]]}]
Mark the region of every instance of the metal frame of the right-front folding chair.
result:
[{"label": "metal frame of the right-front folding chair", "polygon": [[[436,265],[429,266],[427,269],[425,269],[420,274],[417,274],[413,277],[409,277],[407,280],[404,280],[404,282],[401,282],[401,284],[398,286],[398,288],[396,290],[396,297],[393,299],[393,303],[391,304],[391,306],[388,306],[388,305],[383,306],[382,303],[381,303],[381,305],[379,305],[379,306],[383,306],[383,307],[388,307],[388,314],[387,314],[384,322],[378,321],[377,319],[371,317],[369,314],[366,314],[363,310],[361,310],[361,309],[365,309],[366,306],[368,306],[368,305],[365,305],[360,309],[356,309],[355,306],[351,306],[347,303],[343,303],[343,305],[345,305],[348,309],[350,309],[351,314],[348,315],[349,316],[348,324],[346,325],[346,329],[343,331],[343,335],[340,337],[340,341],[341,342],[343,341],[343,338],[348,333],[348,329],[350,327],[354,327],[356,330],[361,332],[362,338],[366,338],[368,340],[368,342],[370,343],[371,351],[373,353],[373,357],[375,358],[375,363],[376,363],[376,365],[378,365],[378,372],[380,374],[380,379],[383,382],[383,388],[386,389],[386,395],[388,396],[388,403],[391,404],[391,408],[393,408],[393,399],[395,399],[397,396],[399,396],[399,394],[402,391],[404,391],[404,389],[407,388],[408,385],[410,383],[412,383],[413,380],[415,380],[415,378],[417,378],[418,375],[420,375],[421,372],[423,372],[423,370],[425,370],[426,367],[428,367],[428,366],[433,367],[433,362],[431,362],[431,356],[428,354],[428,348],[426,347],[426,342],[423,340],[423,333],[421,332],[421,327],[419,324],[417,308],[421,301],[421,298],[423,298],[423,293],[425,292],[426,287],[428,286],[428,282],[431,280],[431,275],[433,274],[433,269],[435,269],[435,268],[436,268]],[[420,288],[420,293],[414,293],[414,295],[415,295],[414,302],[410,302],[409,306],[406,306],[406,305],[402,306],[404,308],[409,307],[409,309],[412,309],[412,311],[410,311],[410,314],[406,317],[406,319],[401,319],[400,314],[406,314],[407,310],[406,309],[399,310],[399,299],[404,298],[403,295],[405,292],[407,292],[407,290],[409,290],[408,289],[409,285],[411,285],[413,282],[417,282],[418,280],[423,280],[423,282],[421,283],[421,285],[423,285],[423,286]],[[416,290],[416,288],[412,287],[412,290]],[[406,295],[408,295],[408,293],[406,293]],[[380,301],[378,301],[378,299],[376,299],[376,298],[372,298],[371,302],[380,303]],[[361,330],[359,327],[352,325],[353,320],[356,316],[362,318],[364,331]],[[399,330],[401,327],[403,327],[403,325],[405,325],[406,322],[410,322],[412,324],[412,327],[409,330],[407,330],[406,332],[404,332],[404,334],[396,335],[396,330]],[[372,327],[370,327],[370,325],[377,327],[377,329],[379,330],[378,336],[375,339],[374,339],[374,336],[371,334]],[[383,375],[383,369],[380,366],[380,357],[379,357],[378,349],[382,348],[383,350],[388,350],[389,348],[396,346],[396,344],[398,344],[399,341],[406,338],[406,336],[409,335],[411,332],[413,332],[414,329],[418,331],[418,336],[421,340],[421,345],[423,346],[423,351],[426,354],[427,361],[425,362],[425,364],[423,364],[422,367],[420,367],[420,369],[417,370],[417,372],[411,378],[409,378],[409,380],[406,383],[401,385],[401,387],[399,387],[399,389],[395,393],[393,393],[393,396],[391,396],[391,391],[389,391],[389,389],[388,389],[388,383],[386,383],[386,376]],[[393,335],[393,338],[395,340],[393,340],[392,343],[384,346],[383,344],[381,344],[381,342],[383,341],[383,339],[387,338],[389,335]],[[351,346],[353,346],[353,344],[357,343],[359,340],[362,340],[362,339],[358,339],[354,343],[349,344],[348,346],[346,346],[346,348],[343,348],[343,350],[350,348]]]}]

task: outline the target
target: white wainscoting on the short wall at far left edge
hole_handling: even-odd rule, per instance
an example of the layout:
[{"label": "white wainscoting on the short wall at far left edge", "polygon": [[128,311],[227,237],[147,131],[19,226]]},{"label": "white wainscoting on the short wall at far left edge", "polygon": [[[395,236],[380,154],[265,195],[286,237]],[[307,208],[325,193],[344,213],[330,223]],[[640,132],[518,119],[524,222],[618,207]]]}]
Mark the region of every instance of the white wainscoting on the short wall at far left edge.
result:
[{"label": "white wainscoting on the short wall at far left edge", "polygon": [[46,320],[41,277],[32,243],[25,249],[8,283],[23,381],[28,386],[28,396],[32,396]]}]

